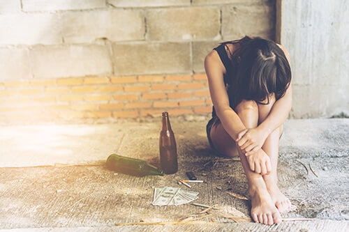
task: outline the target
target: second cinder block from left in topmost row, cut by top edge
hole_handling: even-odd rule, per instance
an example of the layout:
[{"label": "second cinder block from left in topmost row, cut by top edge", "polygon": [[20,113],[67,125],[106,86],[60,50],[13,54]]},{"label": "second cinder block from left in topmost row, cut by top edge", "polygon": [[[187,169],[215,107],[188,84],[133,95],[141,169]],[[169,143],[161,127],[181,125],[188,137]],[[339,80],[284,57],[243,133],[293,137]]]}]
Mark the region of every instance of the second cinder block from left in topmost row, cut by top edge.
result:
[{"label": "second cinder block from left in topmost row, cut by top edge", "polygon": [[85,10],[105,8],[105,0],[22,0],[22,5],[24,11]]}]

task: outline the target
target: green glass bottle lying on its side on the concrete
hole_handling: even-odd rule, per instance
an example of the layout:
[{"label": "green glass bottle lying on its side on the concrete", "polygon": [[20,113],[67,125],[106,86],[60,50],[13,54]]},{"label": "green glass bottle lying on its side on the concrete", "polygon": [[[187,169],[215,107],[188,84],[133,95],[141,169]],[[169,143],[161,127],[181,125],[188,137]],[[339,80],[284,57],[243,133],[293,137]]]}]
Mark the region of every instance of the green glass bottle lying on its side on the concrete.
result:
[{"label": "green glass bottle lying on its side on the concrete", "polygon": [[144,160],[112,154],[107,157],[107,169],[131,176],[163,176],[165,173]]}]

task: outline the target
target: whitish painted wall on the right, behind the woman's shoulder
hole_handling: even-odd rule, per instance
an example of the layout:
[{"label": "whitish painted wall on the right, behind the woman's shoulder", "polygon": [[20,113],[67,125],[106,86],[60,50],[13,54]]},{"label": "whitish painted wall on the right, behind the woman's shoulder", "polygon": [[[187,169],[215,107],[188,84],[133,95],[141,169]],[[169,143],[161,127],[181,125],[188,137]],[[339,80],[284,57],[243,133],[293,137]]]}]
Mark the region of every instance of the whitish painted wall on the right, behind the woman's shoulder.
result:
[{"label": "whitish painted wall on the right, behind the woman's shoulder", "polygon": [[281,0],[291,56],[293,118],[349,115],[349,1]]}]

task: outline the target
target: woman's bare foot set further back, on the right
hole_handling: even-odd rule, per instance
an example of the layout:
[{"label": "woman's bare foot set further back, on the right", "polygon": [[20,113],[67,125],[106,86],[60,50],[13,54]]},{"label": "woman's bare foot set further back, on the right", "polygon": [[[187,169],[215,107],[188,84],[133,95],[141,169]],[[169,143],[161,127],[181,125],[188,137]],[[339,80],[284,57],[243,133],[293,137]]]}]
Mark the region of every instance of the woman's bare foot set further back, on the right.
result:
[{"label": "woman's bare foot set further back, on the right", "polygon": [[265,177],[265,184],[267,185],[270,197],[279,212],[285,212],[291,208],[291,201],[280,191],[278,185],[274,180],[272,180],[272,178]]}]

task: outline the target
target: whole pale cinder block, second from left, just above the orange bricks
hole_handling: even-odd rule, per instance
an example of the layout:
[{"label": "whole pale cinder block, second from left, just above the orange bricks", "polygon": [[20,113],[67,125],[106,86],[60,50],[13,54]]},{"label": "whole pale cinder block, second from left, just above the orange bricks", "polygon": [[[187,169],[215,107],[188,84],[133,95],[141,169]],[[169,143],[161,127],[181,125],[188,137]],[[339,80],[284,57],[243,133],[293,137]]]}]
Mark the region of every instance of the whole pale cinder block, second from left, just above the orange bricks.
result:
[{"label": "whole pale cinder block, second from left, just above the orange bricks", "polygon": [[104,45],[35,47],[30,51],[35,77],[109,75],[112,65]]}]

